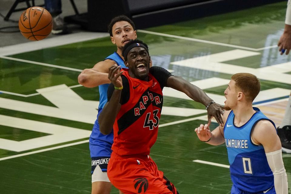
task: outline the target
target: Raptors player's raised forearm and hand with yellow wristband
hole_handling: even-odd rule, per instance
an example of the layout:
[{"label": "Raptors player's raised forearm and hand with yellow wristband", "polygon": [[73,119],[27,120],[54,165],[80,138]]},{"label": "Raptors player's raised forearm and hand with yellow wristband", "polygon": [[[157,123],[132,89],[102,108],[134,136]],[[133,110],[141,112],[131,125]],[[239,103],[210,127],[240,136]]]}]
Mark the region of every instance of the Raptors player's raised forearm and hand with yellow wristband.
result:
[{"label": "Raptors player's raised forearm and hand with yellow wristband", "polygon": [[108,135],[112,131],[115,118],[121,107],[120,97],[123,85],[120,77],[122,71],[119,72],[119,69],[120,66],[113,65],[108,74],[108,78],[111,81],[111,86],[114,85],[114,89],[109,86],[108,93],[112,92],[112,95],[108,95],[108,98],[110,99],[103,107],[98,119],[100,132],[104,135]]}]

